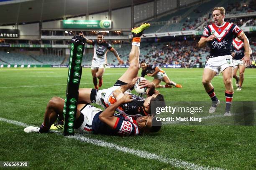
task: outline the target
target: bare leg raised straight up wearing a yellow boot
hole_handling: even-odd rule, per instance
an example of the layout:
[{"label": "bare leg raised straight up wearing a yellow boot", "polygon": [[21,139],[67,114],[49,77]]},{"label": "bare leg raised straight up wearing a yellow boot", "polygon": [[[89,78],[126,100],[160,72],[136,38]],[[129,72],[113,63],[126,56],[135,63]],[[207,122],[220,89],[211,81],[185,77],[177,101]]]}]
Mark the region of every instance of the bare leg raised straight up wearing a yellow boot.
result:
[{"label": "bare leg raised straight up wearing a yellow boot", "polygon": [[149,24],[142,24],[140,27],[132,30],[133,42],[132,49],[129,54],[130,66],[118,80],[125,83],[131,83],[131,80],[138,76],[138,71],[140,70],[139,56],[141,35],[143,34],[143,30],[145,30],[149,26]]}]

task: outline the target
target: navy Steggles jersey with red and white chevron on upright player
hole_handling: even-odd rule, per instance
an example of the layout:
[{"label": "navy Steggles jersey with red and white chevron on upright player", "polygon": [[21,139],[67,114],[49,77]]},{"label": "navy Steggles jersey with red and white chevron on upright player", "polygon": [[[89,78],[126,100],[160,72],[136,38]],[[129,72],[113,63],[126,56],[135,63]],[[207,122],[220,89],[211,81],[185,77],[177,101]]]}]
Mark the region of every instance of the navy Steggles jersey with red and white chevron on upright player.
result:
[{"label": "navy Steggles jersey with red and white chevron on upright player", "polygon": [[217,37],[215,40],[208,42],[211,48],[210,57],[231,55],[233,38],[240,34],[241,31],[242,30],[237,25],[228,22],[224,22],[221,26],[215,25],[215,23],[208,25],[202,37],[207,38],[210,35]]}]

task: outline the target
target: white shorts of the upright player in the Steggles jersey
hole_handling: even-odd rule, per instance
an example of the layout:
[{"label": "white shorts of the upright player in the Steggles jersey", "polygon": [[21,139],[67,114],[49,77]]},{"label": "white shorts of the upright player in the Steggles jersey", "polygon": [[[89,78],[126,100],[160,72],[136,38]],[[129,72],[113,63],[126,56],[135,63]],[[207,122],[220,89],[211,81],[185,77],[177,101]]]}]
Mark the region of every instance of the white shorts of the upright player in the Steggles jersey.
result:
[{"label": "white shorts of the upright player in the Steggles jersey", "polygon": [[227,67],[234,67],[231,55],[223,55],[218,57],[209,58],[205,68],[209,68],[218,74],[223,72]]}]

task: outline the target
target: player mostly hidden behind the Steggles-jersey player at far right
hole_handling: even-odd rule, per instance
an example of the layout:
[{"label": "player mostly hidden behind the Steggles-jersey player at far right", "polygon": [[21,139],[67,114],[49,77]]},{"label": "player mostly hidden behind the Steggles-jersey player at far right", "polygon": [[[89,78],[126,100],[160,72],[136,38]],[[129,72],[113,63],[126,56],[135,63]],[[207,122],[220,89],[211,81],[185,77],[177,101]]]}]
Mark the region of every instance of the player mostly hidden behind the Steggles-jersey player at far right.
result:
[{"label": "player mostly hidden behind the Steggles-jersey player at far right", "polygon": [[[252,54],[251,48],[250,55]],[[233,78],[236,79],[236,87],[238,87],[236,90],[241,91],[243,80],[244,80],[244,71],[245,71],[245,63],[244,60],[241,60],[244,57],[244,47],[243,42],[239,40],[237,37],[233,39],[232,43],[232,56],[233,56],[233,64],[234,64],[234,73]],[[236,75],[237,70],[239,69],[239,76]]]}]

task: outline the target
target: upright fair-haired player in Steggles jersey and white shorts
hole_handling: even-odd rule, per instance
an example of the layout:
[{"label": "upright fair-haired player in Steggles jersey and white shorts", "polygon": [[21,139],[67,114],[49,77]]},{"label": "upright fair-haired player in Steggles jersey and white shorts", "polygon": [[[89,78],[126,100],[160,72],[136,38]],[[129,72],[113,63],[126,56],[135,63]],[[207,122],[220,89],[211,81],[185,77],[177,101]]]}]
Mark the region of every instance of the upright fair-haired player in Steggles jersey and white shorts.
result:
[{"label": "upright fair-haired player in Steggles jersey and white shorts", "polygon": [[202,83],[205,87],[206,92],[212,100],[212,106],[210,107],[209,113],[213,113],[216,110],[217,105],[220,101],[215,95],[214,88],[211,84],[211,80],[215,75],[221,71],[223,74],[223,81],[225,85],[225,97],[226,107],[225,116],[230,116],[230,107],[233,98],[233,62],[231,56],[231,45],[234,36],[238,37],[245,48],[245,55],[242,58],[246,65],[250,63],[249,55],[249,41],[243,31],[235,24],[224,21],[225,9],[224,7],[215,7],[212,10],[212,18],[214,23],[208,25],[198,42],[198,46],[205,47],[206,44],[210,45],[210,58],[207,60],[205,69],[202,76]]}]

